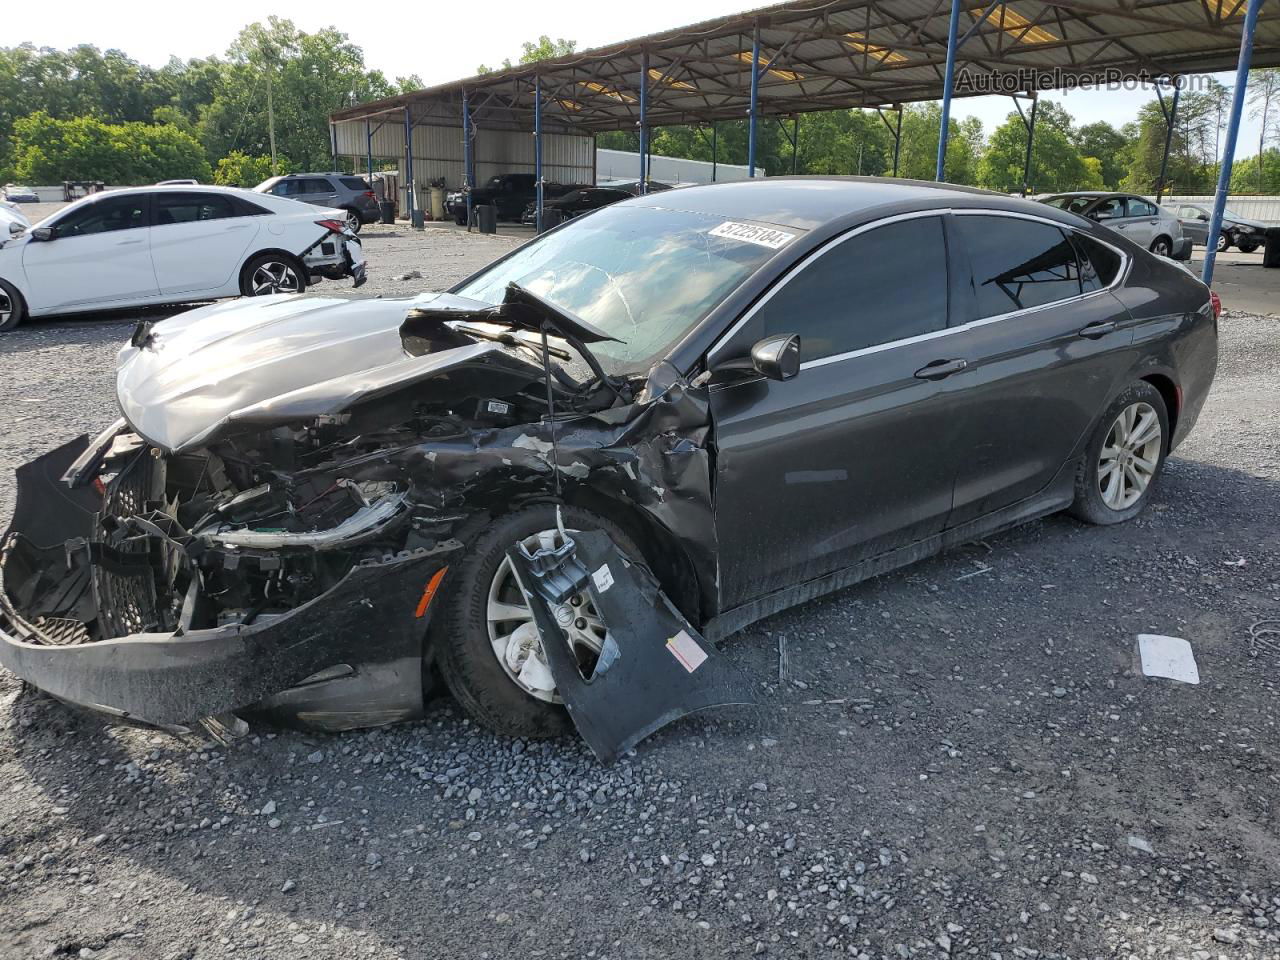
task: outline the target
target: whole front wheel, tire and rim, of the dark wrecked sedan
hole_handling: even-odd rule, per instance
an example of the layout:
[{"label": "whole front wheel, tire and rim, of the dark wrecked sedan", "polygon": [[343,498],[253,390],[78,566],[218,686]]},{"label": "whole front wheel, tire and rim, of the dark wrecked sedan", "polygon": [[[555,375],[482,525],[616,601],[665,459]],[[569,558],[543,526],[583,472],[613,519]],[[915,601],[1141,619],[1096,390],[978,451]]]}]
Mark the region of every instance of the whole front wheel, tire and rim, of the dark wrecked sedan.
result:
[{"label": "whole front wheel, tire and rim, of the dark wrecked sedan", "polygon": [[[640,552],[622,530],[577,507],[562,507],[564,527],[603,530],[631,559]],[[462,708],[506,736],[553,737],[571,727],[556,692],[543,637],[534,626],[507,548],[558,547],[556,508],[538,504],[499,517],[470,544],[466,558],[449,572],[444,616],[435,630],[440,675]],[[608,632],[588,594],[557,607],[556,618],[584,672],[599,655]],[[562,641],[561,637],[556,640]]]}]

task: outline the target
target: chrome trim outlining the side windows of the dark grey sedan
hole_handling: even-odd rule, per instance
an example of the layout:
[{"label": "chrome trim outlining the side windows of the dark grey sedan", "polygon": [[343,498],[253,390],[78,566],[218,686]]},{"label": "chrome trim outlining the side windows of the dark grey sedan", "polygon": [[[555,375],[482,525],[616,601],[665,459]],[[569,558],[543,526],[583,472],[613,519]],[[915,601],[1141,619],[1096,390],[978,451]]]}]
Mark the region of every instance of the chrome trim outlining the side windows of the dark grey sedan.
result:
[{"label": "chrome trim outlining the side windows of the dark grey sedan", "polygon": [[[1114,243],[1108,243],[1105,239],[1100,239],[1098,237],[1094,237],[1093,234],[1084,233],[1079,227],[1074,227],[1071,224],[1059,223],[1057,220],[1052,220],[1052,219],[1050,219],[1047,216],[1036,216],[1034,214],[1024,214],[1024,212],[1016,211],[1016,210],[992,210],[989,207],[959,207],[959,209],[956,209],[956,207],[937,207],[937,209],[933,209],[933,210],[916,210],[916,211],[911,211],[909,214],[895,214],[893,216],[886,216],[882,220],[873,220],[872,223],[865,223],[861,227],[855,227],[852,230],[842,233],[838,237],[832,237],[829,241],[827,241],[826,243],[823,243],[820,247],[818,247],[817,250],[814,250],[814,251],[809,252],[808,255],[805,255],[805,257],[800,262],[792,265],[792,268],[787,271],[786,276],[783,276],[778,283],[776,283],[773,285],[773,288],[768,293],[765,293],[763,297],[760,297],[760,300],[758,300],[755,303],[753,303],[751,307],[745,314],[742,314],[742,316],[740,316],[737,319],[737,321],[728,330],[726,330],[719,337],[719,339],[716,340],[716,343],[712,346],[712,348],[707,351],[707,355],[710,356],[717,349],[719,349],[730,338],[732,338],[735,334],[737,334],[737,332],[741,330],[742,326],[745,326],[746,323],[751,317],[755,316],[756,311],[759,311],[765,303],[768,303],[771,300],[773,300],[774,294],[777,294],[778,291],[781,291],[783,287],[786,287],[788,283],[791,283],[791,280],[795,276],[797,276],[805,268],[808,268],[810,262],[813,262],[818,257],[826,255],[831,250],[835,250],[837,246],[840,246],[845,241],[852,239],[854,237],[859,237],[859,236],[861,236],[864,233],[868,233],[870,230],[874,230],[874,229],[877,229],[879,227],[887,227],[888,224],[900,223],[901,220],[914,220],[914,219],[919,219],[922,216],[946,216],[947,214],[954,214],[956,216],[1007,216],[1007,218],[1011,218],[1011,219],[1015,219],[1015,220],[1030,220],[1032,223],[1042,223],[1042,224],[1044,224],[1047,227],[1056,227],[1057,229],[1062,230],[1064,233],[1066,233],[1068,230],[1070,230],[1073,233],[1079,233],[1082,236],[1088,237],[1094,243],[1101,243],[1103,247],[1106,247],[1107,250],[1110,250],[1111,252],[1114,252],[1116,256],[1119,256],[1120,257],[1120,269],[1116,270],[1115,279],[1112,279],[1111,283],[1108,283],[1106,287],[1100,287],[1096,291],[1089,291],[1088,293],[1079,293],[1079,294],[1076,294],[1074,297],[1068,297],[1065,300],[1055,300],[1055,301],[1051,301],[1048,303],[1039,303],[1039,305],[1037,305],[1034,307],[1023,307],[1021,310],[1011,310],[1007,314],[996,314],[995,316],[984,316],[984,317],[980,317],[978,320],[970,320],[966,324],[960,324],[957,326],[945,326],[941,330],[931,330],[929,333],[916,334],[915,337],[904,337],[902,339],[897,339],[897,340],[886,340],[884,343],[876,343],[876,344],[873,344],[870,347],[859,347],[858,349],[851,349],[851,351],[847,351],[845,353],[832,353],[829,357],[818,357],[817,360],[806,360],[806,361],[804,361],[804,362],[800,364],[800,369],[801,370],[809,370],[810,367],[826,366],[827,364],[835,364],[835,362],[838,362],[838,361],[842,361],[842,360],[851,360],[854,357],[868,356],[868,355],[872,355],[872,353],[882,353],[883,351],[891,349],[893,347],[905,347],[905,346],[909,346],[909,344],[913,344],[913,343],[923,343],[925,340],[932,340],[932,339],[938,339],[941,337],[947,337],[947,335],[950,335],[952,333],[961,333],[964,330],[973,330],[974,328],[984,326],[987,324],[998,323],[1001,320],[1009,320],[1011,317],[1024,316],[1024,315],[1028,315],[1028,314],[1037,314],[1037,312],[1039,312],[1042,310],[1047,310],[1050,307],[1057,307],[1057,306],[1061,306],[1064,303],[1075,303],[1075,302],[1079,302],[1079,301],[1089,300],[1092,297],[1101,297],[1103,293],[1110,293],[1112,289],[1115,289],[1116,287],[1119,287],[1128,278],[1128,275],[1129,275],[1129,268],[1133,265],[1133,257],[1130,257],[1125,251],[1123,251],[1119,247],[1116,247]],[[950,268],[950,265],[951,264],[950,264],[950,257],[948,257],[947,266]],[[950,283],[948,283],[948,287],[950,287]],[[948,310],[950,310],[950,303],[948,303]]]}]

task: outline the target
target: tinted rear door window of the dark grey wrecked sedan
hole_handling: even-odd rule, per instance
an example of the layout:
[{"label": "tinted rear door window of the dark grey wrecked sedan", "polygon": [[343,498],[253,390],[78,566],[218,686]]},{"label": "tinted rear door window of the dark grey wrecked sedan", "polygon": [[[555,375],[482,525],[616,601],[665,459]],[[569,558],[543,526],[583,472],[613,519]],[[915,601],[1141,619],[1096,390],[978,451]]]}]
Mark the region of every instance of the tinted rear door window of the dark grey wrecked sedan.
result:
[{"label": "tinted rear door window of the dark grey wrecked sedan", "polygon": [[973,266],[979,317],[1079,296],[1075,248],[1059,228],[1010,216],[955,221]]}]

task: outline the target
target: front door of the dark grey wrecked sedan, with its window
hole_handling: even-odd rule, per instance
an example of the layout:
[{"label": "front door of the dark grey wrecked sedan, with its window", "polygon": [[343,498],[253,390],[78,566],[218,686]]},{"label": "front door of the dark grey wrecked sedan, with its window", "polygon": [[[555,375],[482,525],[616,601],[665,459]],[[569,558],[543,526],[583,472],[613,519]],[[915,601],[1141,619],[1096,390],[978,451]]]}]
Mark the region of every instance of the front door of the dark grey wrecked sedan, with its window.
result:
[{"label": "front door of the dark grey wrecked sedan, with its window", "polygon": [[810,255],[713,351],[800,335],[796,378],[712,381],[724,608],[942,530],[957,452],[937,371],[957,357],[948,297],[942,218],[901,218]]}]

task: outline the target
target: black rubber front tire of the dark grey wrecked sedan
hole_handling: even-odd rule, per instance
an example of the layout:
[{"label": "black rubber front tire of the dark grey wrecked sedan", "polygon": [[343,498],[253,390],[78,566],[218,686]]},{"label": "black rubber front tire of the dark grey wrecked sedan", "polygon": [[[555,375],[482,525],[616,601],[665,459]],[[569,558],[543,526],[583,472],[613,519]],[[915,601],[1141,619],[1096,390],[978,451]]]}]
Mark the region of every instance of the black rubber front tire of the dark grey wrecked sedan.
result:
[{"label": "black rubber front tire of the dark grey wrecked sedan", "polygon": [[[631,539],[613,522],[577,507],[562,507],[567,530],[603,530],[632,559],[640,558]],[[465,559],[443,584],[443,617],[433,623],[440,676],[462,709],[495,733],[547,739],[572,728],[568,713],[552,699],[527,692],[507,671],[490,635],[489,602],[495,579],[503,573],[507,548],[556,530],[556,507],[536,504],[498,517],[468,543]],[[502,596],[511,596],[503,594]],[[499,596],[499,599],[502,599]],[[518,598],[518,590],[515,596]]]}]

